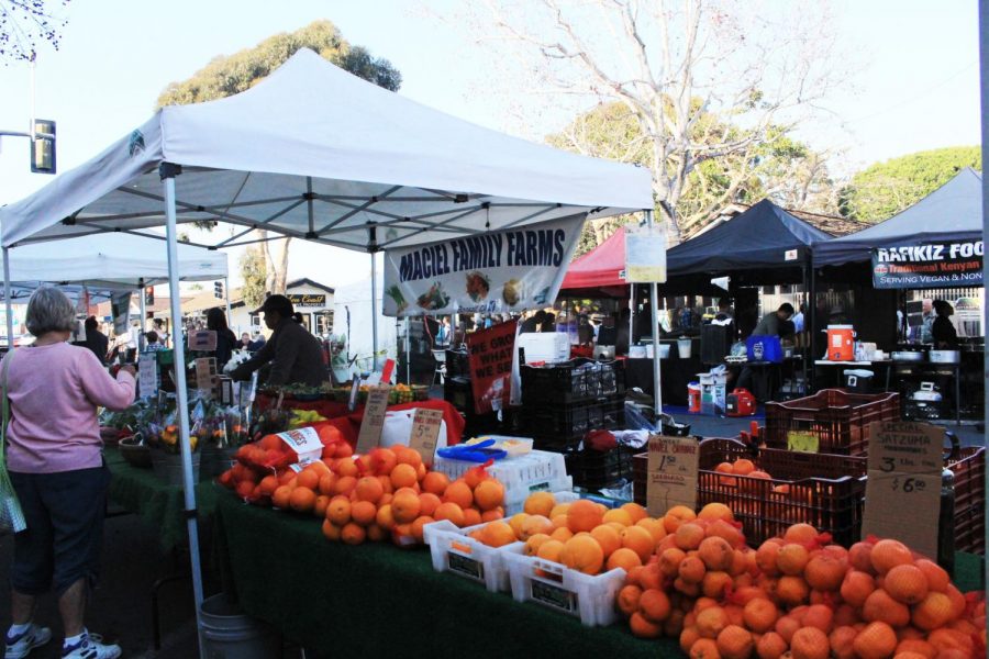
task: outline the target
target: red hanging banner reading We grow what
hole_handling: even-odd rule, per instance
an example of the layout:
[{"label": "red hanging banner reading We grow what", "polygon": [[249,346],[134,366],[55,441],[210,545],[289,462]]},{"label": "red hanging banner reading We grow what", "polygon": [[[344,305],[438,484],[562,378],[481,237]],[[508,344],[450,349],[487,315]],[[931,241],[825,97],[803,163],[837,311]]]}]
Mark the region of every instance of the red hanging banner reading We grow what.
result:
[{"label": "red hanging banner reading We grow what", "polygon": [[467,335],[470,389],[478,414],[501,410],[509,403],[518,324],[509,321]]}]

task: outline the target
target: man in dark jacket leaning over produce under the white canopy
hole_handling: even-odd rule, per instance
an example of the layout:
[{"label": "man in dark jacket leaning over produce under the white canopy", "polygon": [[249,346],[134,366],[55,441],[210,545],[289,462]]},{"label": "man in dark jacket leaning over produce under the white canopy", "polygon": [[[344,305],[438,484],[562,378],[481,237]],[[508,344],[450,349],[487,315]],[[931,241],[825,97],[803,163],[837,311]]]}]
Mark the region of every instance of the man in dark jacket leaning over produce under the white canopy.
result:
[{"label": "man in dark jacket leaning over produce under the white canopy", "polygon": [[268,295],[258,312],[265,312],[265,325],[271,337],[247,361],[231,373],[234,380],[246,380],[251,373],[268,366],[266,384],[308,384],[319,387],[330,379],[319,339],[292,320],[291,301],[285,295]]}]

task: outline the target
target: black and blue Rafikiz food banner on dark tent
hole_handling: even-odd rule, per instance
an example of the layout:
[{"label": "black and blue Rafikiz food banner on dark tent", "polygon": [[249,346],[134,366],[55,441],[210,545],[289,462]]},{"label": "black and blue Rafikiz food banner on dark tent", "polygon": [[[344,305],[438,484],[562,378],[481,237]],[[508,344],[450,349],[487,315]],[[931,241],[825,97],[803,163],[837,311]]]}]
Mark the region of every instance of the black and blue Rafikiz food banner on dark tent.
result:
[{"label": "black and blue Rafikiz food banner on dark tent", "polygon": [[982,286],[982,241],[875,247],[873,286],[877,289]]}]

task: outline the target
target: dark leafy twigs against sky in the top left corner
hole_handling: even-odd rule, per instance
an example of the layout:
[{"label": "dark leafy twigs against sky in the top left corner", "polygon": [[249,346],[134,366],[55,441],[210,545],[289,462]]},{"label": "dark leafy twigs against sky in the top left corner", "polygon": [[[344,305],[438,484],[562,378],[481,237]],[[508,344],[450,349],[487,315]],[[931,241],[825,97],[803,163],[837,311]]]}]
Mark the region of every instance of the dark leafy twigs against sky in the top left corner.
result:
[{"label": "dark leafy twigs against sky in the top left corner", "polygon": [[52,11],[65,8],[69,0],[0,0],[0,62],[34,59],[38,42],[48,42],[56,51],[67,21]]}]

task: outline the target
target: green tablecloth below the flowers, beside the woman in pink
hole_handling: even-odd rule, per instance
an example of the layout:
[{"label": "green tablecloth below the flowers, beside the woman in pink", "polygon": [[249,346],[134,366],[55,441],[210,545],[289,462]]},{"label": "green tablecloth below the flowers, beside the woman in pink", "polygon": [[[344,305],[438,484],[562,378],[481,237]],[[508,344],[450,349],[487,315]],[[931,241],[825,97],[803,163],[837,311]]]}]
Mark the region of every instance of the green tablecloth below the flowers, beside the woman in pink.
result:
[{"label": "green tablecloth below the flowers, beside the woman in pink", "polygon": [[[188,529],[182,487],[166,484],[151,469],[134,467],[115,448],[104,448],[103,458],[111,473],[110,501],[157,528],[163,549],[186,543]],[[196,485],[196,507],[200,518],[213,514],[221,490],[212,477],[200,476]]]}]

